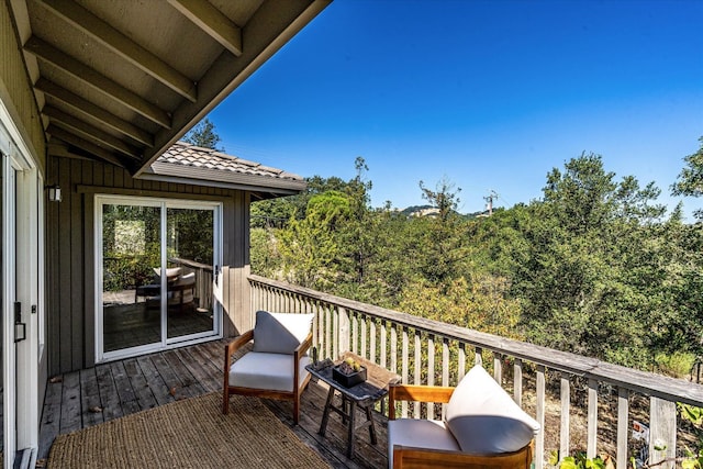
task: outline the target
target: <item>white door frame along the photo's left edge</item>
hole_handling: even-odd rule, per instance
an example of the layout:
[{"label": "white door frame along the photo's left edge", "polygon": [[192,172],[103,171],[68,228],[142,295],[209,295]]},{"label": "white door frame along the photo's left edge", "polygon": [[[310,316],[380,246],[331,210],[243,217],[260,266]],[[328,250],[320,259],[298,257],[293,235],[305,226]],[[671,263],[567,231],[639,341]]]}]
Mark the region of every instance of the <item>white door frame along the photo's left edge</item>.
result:
[{"label": "white door frame along the photo's left edge", "polygon": [[[43,179],[30,147],[0,101],[0,154],[3,175],[2,225],[2,380],[3,466],[11,468],[18,451],[33,465],[40,426],[40,317],[44,315],[40,277],[43,259]],[[8,258],[8,255],[11,257]],[[22,304],[26,339],[15,344],[13,302]]]}]

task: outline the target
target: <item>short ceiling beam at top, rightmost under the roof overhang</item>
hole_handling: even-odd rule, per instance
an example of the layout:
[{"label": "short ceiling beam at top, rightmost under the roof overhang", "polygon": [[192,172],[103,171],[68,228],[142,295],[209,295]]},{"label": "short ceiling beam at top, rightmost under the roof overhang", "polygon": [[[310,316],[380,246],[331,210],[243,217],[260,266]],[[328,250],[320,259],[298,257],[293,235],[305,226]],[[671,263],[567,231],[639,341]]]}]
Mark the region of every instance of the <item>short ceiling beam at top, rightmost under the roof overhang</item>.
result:
[{"label": "short ceiling beam at top, rightmost under the roof overhang", "polygon": [[168,0],[188,20],[235,56],[242,55],[242,29],[207,0]]}]

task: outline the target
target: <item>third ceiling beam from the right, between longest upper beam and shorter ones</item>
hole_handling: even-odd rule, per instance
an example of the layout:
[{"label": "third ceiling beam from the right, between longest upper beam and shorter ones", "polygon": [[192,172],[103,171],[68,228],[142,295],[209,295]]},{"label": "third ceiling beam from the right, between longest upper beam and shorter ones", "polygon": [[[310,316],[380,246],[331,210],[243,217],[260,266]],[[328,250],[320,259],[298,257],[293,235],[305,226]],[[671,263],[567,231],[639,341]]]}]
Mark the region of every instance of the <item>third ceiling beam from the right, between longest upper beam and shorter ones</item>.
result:
[{"label": "third ceiling beam from the right, between longest upper beam and shorter ones", "polygon": [[36,56],[41,60],[53,64],[55,67],[66,71],[85,86],[99,91],[119,104],[131,109],[166,130],[170,130],[171,119],[166,111],[145,101],[138,94],[133,93],[45,41],[42,41],[36,36],[32,36],[24,44],[24,51]]}]

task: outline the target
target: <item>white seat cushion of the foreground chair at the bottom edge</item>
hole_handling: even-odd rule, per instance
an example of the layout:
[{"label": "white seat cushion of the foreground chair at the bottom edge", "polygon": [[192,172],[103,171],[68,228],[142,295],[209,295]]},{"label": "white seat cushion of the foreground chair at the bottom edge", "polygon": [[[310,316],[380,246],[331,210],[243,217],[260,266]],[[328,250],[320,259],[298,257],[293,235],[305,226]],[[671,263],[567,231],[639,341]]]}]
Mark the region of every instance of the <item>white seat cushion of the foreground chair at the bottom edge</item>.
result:
[{"label": "white seat cushion of the foreground chair at the bottom edge", "polygon": [[442,421],[399,418],[388,421],[388,461],[393,467],[393,446],[459,451],[459,444]]}]

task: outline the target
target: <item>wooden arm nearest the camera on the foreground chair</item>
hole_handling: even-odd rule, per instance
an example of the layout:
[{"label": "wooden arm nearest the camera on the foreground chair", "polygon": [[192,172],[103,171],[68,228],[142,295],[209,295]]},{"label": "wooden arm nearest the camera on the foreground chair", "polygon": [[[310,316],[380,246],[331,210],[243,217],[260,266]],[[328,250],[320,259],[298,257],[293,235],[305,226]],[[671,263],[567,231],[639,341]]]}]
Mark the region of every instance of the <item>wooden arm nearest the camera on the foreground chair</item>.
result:
[{"label": "wooden arm nearest the camera on the foreground chair", "polygon": [[533,459],[534,440],[513,453],[499,455],[467,455],[444,449],[393,446],[393,468],[494,468],[528,469]]}]

